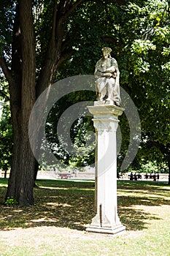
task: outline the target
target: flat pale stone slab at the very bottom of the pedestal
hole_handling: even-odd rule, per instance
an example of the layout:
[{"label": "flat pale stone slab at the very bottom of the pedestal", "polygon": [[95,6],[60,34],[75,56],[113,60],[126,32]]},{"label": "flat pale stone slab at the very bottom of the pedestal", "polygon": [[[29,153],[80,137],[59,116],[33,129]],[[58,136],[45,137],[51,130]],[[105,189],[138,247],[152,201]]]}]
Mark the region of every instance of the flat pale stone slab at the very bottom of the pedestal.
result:
[{"label": "flat pale stone slab at the very bottom of the pedestal", "polygon": [[113,236],[120,236],[120,235],[123,235],[123,233],[125,233],[125,226],[120,225],[112,229],[104,228],[104,227],[87,227],[86,231],[93,232],[93,233],[109,234]]}]

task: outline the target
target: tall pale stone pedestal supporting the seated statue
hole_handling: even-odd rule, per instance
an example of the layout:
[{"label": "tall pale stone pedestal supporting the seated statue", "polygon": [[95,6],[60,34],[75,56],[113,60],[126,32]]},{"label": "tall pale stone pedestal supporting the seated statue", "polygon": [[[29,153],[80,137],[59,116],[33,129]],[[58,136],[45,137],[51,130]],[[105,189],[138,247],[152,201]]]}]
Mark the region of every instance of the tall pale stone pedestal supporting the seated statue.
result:
[{"label": "tall pale stone pedestal supporting the seated statue", "polygon": [[117,215],[116,130],[123,108],[95,102],[88,110],[96,129],[96,216],[87,231],[117,235],[125,230]]}]

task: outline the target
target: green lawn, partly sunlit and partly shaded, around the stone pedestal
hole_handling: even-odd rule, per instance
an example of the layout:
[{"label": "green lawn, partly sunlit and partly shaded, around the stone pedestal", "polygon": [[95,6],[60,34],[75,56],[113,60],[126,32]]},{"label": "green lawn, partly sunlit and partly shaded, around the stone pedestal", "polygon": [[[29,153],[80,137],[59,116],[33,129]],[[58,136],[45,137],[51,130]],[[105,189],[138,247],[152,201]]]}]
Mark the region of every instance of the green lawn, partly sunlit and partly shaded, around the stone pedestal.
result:
[{"label": "green lawn, partly sunlit and partly shaded, around the stone pedestal", "polygon": [[86,233],[94,216],[93,181],[39,180],[35,205],[6,207],[0,178],[0,255],[169,256],[170,187],[163,182],[117,181],[123,236]]}]

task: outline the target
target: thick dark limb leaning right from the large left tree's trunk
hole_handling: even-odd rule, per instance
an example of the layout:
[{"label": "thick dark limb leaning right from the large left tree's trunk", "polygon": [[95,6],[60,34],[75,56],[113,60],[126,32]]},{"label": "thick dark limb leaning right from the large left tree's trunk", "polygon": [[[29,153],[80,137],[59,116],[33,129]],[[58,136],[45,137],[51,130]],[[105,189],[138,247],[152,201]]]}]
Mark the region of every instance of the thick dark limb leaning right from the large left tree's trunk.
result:
[{"label": "thick dark limb leaning right from the large left tree's trunk", "polygon": [[[36,96],[44,91],[50,83],[53,83],[53,77],[55,70],[59,64],[61,64],[68,56],[71,51],[62,51],[63,48],[63,36],[65,33],[66,24],[63,22],[83,1],[77,0],[71,5],[71,0],[61,0],[58,4],[57,12],[53,10],[53,31],[52,37],[48,43],[47,52],[45,55],[45,61],[42,70],[39,74],[39,78],[36,83]],[[56,8],[54,2],[54,8]],[[55,19],[56,18],[56,19]],[[55,41],[53,40],[53,34],[55,30]]]}]

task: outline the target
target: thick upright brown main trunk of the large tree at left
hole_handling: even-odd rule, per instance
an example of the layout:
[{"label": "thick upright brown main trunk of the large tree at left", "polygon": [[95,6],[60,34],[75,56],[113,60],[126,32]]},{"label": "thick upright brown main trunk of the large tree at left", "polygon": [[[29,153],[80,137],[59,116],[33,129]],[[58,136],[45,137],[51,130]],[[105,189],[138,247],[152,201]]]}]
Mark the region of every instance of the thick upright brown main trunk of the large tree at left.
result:
[{"label": "thick upright brown main trunk of the large tree at left", "polygon": [[[15,83],[10,84],[10,104],[13,126],[12,169],[6,197],[15,197],[20,205],[34,204],[34,155],[28,138],[28,122],[35,102],[35,41],[31,0],[19,1],[18,42],[21,50],[14,44],[15,62],[13,71]],[[19,22],[18,22],[19,21]],[[15,33],[16,35],[16,33]],[[18,51],[17,51],[18,50]],[[19,75],[18,75],[19,72]]]}]

